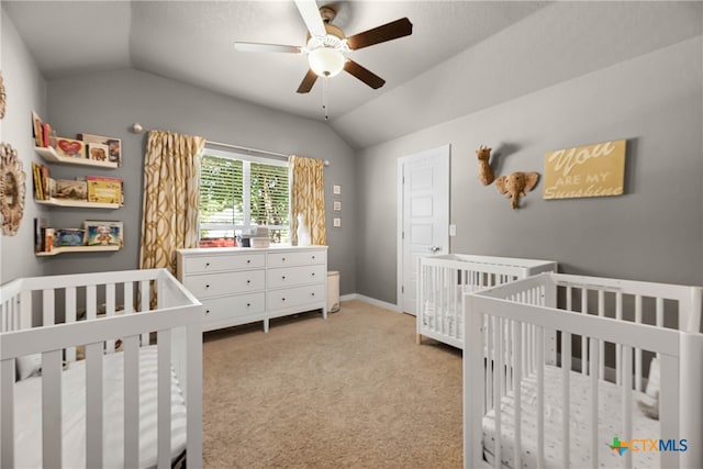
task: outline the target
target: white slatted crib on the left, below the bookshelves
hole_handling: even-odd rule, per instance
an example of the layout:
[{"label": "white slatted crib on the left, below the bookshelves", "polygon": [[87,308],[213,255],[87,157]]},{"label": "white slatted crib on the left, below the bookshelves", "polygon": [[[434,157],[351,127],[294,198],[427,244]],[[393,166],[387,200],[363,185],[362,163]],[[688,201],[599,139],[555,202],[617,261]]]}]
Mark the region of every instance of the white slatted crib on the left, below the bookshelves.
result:
[{"label": "white slatted crib on the left, below the bookshelves", "polygon": [[201,319],[165,269],[0,287],[0,466],[201,467]]}]

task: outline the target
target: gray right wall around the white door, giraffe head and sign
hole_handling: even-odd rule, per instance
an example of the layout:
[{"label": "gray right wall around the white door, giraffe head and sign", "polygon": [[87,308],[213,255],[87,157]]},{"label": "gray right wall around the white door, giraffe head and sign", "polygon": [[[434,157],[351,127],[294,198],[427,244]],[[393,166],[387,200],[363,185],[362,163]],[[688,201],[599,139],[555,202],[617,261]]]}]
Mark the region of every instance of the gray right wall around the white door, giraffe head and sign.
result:
[{"label": "gray right wall around the white door, giraffe head and sign", "polygon": [[[699,36],[359,152],[357,291],[397,301],[397,160],[444,144],[451,144],[451,252],[555,259],[569,273],[703,283],[702,53]],[[493,185],[477,179],[480,145],[500,155],[501,175],[542,174],[546,152],[622,138],[622,197],[545,201],[539,183],[512,211]]]}]

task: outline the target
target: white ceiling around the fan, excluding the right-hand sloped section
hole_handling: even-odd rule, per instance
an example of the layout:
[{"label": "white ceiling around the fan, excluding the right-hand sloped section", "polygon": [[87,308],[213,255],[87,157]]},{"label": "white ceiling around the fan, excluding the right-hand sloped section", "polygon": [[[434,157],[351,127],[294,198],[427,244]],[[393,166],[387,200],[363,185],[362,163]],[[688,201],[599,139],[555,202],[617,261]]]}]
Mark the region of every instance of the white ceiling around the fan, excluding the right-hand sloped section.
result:
[{"label": "white ceiling around the fan, excluding the right-hand sloped section", "polygon": [[[319,1],[322,5],[326,2]],[[334,24],[353,35],[408,16],[413,34],[352,53],[387,83],[373,90],[341,74],[328,81],[333,116],[414,78],[507,27],[544,2],[342,1]],[[304,45],[292,1],[3,1],[47,79],[133,67],[258,104],[322,119],[322,80],[295,90],[308,71],[294,54],[235,51],[235,41]],[[60,27],[56,24],[75,24]]]}]

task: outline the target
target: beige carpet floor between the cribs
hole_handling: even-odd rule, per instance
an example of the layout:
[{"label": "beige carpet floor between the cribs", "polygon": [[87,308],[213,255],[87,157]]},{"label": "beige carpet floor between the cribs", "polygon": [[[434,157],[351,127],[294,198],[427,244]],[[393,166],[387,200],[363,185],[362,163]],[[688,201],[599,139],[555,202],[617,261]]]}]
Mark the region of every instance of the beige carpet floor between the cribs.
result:
[{"label": "beige carpet floor between the cribs", "polygon": [[207,468],[460,468],[461,353],[360,301],[205,334]]}]

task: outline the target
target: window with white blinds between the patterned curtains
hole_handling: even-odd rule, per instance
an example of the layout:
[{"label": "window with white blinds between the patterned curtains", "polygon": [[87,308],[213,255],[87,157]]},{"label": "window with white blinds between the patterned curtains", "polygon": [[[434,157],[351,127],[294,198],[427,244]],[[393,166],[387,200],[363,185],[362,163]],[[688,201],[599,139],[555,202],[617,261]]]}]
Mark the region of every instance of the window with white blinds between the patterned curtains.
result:
[{"label": "window with white blinds between the patterned curtains", "polygon": [[290,243],[288,161],[205,148],[200,160],[200,246],[234,246],[252,228]]}]

